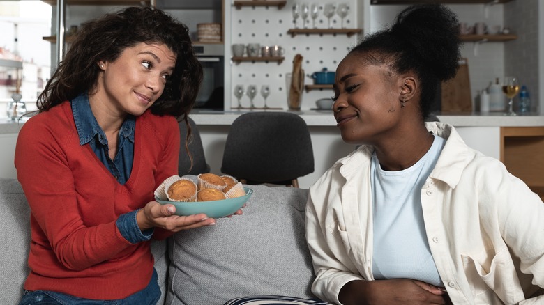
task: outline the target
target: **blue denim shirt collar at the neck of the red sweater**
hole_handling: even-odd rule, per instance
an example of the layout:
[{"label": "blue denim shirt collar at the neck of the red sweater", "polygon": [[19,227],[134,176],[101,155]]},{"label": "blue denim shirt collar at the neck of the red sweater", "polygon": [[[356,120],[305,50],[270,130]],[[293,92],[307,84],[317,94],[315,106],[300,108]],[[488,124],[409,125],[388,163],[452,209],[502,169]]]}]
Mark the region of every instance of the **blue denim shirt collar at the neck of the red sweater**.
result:
[{"label": "blue denim shirt collar at the neck of the red sweater", "polygon": [[[95,136],[98,135],[98,141],[106,145],[107,139],[104,131],[98,125],[94,117],[91,105],[89,104],[89,95],[86,93],[78,95],[72,100],[72,113],[74,116],[75,127],[77,134],[80,136],[80,145],[89,143]],[[134,129],[136,119],[134,116],[128,115],[121,125],[119,134],[130,142],[134,143]]]}]

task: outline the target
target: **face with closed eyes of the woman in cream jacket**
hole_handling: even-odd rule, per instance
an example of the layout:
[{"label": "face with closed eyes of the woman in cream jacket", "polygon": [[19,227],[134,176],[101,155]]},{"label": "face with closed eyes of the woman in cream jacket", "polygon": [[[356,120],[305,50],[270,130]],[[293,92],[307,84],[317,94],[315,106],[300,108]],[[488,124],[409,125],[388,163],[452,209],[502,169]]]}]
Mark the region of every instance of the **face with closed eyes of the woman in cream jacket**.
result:
[{"label": "face with closed eyes of the woman in cream jacket", "polygon": [[336,70],[334,117],[346,143],[375,144],[398,130],[404,79],[349,54]]}]

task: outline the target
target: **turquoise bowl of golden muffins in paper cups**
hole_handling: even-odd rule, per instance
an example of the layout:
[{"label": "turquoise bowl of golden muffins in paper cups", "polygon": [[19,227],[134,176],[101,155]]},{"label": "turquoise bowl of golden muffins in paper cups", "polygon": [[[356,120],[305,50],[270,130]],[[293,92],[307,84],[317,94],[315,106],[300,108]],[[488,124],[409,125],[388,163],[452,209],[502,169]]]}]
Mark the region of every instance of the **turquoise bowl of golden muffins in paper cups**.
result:
[{"label": "turquoise bowl of golden muffins in paper cups", "polygon": [[155,191],[160,204],[172,204],[174,214],[189,216],[204,213],[211,218],[234,214],[248,201],[252,189],[229,175],[202,173],[196,180],[174,175],[165,180]]}]

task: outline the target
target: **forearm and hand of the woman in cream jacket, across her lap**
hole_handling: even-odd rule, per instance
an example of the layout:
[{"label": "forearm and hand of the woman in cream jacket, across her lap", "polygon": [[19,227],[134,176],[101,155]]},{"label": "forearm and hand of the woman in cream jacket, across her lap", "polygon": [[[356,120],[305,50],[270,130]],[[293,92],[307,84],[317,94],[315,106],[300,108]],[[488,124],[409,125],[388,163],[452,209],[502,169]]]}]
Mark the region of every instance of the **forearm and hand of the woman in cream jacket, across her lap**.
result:
[{"label": "forearm and hand of the woman in cream jacket, across her lap", "polygon": [[449,304],[444,288],[411,279],[351,281],[340,290],[340,302],[349,304]]}]

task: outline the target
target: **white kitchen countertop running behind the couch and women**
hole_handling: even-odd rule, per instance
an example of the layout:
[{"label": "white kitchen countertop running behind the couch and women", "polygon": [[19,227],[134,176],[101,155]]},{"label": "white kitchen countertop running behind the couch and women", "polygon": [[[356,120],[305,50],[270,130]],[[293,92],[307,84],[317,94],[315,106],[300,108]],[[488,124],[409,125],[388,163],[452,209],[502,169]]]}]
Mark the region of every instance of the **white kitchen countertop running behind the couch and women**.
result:
[{"label": "white kitchen countertop running behind the couch and women", "polygon": [[[209,111],[195,109],[190,117],[195,120],[197,125],[231,125],[232,122],[243,111]],[[262,111],[262,110],[254,110]],[[330,110],[301,110],[291,111],[299,114],[308,124],[308,126],[335,126],[333,113]],[[544,126],[544,116],[541,114],[530,114],[524,116],[505,116],[502,113],[460,113],[460,114],[441,114],[436,116],[441,122],[449,123],[455,127],[530,127]],[[7,118],[0,118],[0,134],[17,134],[20,126],[24,122],[11,121]]]}]

